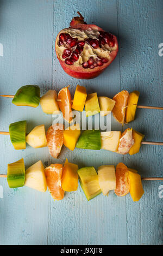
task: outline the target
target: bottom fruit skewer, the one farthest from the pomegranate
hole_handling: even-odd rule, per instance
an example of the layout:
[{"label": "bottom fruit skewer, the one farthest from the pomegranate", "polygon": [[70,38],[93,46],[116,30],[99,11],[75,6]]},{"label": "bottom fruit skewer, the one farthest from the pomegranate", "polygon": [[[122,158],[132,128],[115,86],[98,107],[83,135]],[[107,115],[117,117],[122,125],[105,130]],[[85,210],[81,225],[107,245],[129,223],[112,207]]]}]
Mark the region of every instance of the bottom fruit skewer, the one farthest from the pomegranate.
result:
[{"label": "bottom fruit skewer, the one farthest from the pomegranate", "polygon": [[119,197],[130,192],[134,201],[139,201],[144,193],[142,180],[163,180],[163,177],[141,178],[136,170],[123,163],[116,166],[116,171],[114,165],[101,165],[96,172],[93,166],[79,169],[77,164],[69,163],[67,159],[64,165],[51,164],[47,168],[39,160],[25,171],[23,158],[8,164],[7,175],[1,174],[0,177],[7,177],[10,188],[27,186],[46,192],[48,187],[56,200],[63,199],[65,192],[76,191],[78,179],[87,200],[101,193],[108,195],[110,190],[114,190]]}]

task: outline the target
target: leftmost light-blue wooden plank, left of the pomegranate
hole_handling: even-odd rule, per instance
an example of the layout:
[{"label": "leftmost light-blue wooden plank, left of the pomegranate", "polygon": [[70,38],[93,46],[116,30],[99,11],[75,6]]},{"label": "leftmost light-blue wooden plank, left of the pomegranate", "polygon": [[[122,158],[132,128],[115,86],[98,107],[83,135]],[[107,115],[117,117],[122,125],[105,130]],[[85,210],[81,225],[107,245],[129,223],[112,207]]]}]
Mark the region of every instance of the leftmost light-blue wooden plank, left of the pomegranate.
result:
[{"label": "leftmost light-blue wooden plank, left of the pomegranate", "polygon": [[[15,93],[26,84],[37,84],[41,92],[52,84],[52,29],[53,1],[1,1],[1,43],[4,56],[0,59],[1,93]],[[37,124],[51,124],[51,116],[42,114],[41,108],[17,107],[11,99],[1,99],[1,130],[8,130],[11,122],[27,120],[28,132]],[[27,146],[15,151],[9,136],[1,136],[1,172],[7,164],[24,158],[26,166],[37,160],[46,162],[47,148]],[[48,192],[39,193],[27,187],[9,189],[6,179],[4,199],[0,199],[0,243],[47,243]]]}]

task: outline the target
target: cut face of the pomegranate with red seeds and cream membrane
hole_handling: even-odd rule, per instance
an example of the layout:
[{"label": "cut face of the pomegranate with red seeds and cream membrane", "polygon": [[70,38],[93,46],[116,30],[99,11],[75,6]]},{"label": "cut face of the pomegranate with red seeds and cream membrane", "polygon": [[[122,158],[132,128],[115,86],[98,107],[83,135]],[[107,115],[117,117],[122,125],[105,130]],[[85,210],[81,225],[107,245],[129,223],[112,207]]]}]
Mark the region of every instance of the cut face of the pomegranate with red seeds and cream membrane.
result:
[{"label": "cut face of the pomegranate with red seeds and cream membrane", "polygon": [[61,61],[68,65],[82,65],[83,68],[103,66],[111,58],[110,53],[116,49],[117,45],[111,34],[91,28],[85,31],[62,29],[56,45]]}]

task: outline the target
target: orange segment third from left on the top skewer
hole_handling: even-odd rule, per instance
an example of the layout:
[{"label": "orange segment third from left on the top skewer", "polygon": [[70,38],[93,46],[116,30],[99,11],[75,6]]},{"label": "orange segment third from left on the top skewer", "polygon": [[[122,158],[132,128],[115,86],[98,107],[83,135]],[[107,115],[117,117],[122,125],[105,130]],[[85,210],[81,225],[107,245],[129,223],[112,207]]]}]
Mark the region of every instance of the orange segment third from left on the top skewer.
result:
[{"label": "orange segment third from left on the top skewer", "polygon": [[68,87],[69,86],[64,87],[59,91],[58,105],[60,110],[62,111],[64,119],[68,123],[70,123],[72,121],[72,110],[71,110],[72,100],[71,100],[71,94],[70,94],[70,91],[68,90]]}]

